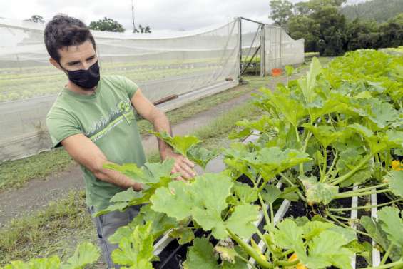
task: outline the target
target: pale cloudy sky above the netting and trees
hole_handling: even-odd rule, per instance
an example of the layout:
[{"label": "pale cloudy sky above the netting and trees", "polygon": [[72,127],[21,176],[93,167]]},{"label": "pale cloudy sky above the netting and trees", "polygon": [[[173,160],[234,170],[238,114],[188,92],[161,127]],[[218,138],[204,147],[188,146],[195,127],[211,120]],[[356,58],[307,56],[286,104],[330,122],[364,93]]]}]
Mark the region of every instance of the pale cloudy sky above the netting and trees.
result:
[{"label": "pale cloudy sky above the netting and trees", "polygon": [[[195,30],[225,24],[235,16],[271,23],[270,0],[133,0],[136,24],[155,30]],[[298,0],[293,0],[297,2]],[[357,0],[350,0],[357,1]],[[359,0],[358,0],[359,1]],[[76,16],[89,24],[104,16],[131,29],[131,0],[0,0],[0,17],[47,21],[57,13]]]}]

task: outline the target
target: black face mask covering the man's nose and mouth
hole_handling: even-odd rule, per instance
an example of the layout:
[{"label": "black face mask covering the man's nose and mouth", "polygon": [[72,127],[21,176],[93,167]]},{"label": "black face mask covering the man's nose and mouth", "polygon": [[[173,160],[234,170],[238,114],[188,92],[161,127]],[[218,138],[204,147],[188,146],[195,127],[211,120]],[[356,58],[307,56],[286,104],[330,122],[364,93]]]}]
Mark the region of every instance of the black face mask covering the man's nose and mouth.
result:
[{"label": "black face mask covering the man's nose and mouth", "polygon": [[[63,68],[63,67],[62,67]],[[88,70],[70,71],[63,68],[67,72],[68,79],[81,88],[91,90],[98,85],[99,81],[99,66],[98,61],[95,62]]]}]

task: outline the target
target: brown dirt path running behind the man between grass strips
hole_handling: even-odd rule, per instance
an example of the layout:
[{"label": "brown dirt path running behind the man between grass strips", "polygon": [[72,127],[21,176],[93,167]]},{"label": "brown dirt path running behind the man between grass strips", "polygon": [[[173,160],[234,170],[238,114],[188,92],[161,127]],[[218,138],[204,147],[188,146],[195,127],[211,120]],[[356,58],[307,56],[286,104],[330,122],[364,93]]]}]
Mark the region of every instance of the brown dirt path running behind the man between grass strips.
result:
[{"label": "brown dirt path running behind the man between grass strips", "polygon": [[[274,86],[283,79],[285,78],[267,80],[267,86],[274,88]],[[198,113],[198,115],[193,118],[188,118],[172,126],[173,133],[178,136],[192,133],[231,108],[245,103],[245,101],[250,98],[250,93],[246,93],[245,95],[221,103],[214,108],[210,108],[208,111]],[[157,151],[158,146],[155,136],[145,136],[143,138],[143,146],[148,153]],[[81,170],[79,166],[76,165],[68,171],[56,173],[46,180],[34,179],[23,188],[5,191],[1,193],[0,196],[0,228],[11,220],[11,218],[16,218],[21,214],[26,214],[27,212],[33,213],[36,210],[45,208],[49,202],[66,196],[69,191],[82,188],[84,188],[84,183]]]}]

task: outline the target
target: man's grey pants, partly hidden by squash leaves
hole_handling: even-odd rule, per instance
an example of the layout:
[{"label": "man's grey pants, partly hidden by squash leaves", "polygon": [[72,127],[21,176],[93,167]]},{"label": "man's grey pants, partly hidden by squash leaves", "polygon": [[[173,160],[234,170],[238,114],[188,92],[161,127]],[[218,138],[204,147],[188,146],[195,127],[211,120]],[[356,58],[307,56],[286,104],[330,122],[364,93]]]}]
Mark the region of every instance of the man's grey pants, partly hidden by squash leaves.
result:
[{"label": "man's grey pants, partly hidden by squash leaves", "polygon": [[[96,232],[98,233],[98,244],[101,248],[103,259],[105,260],[108,268],[121,268],[120,265],[115,265],[111,258],[113,250],[118,248],[118,244],[111,244],[108,242],[109,236],[118,230],[119,227],[128,225],[136,215],[140,212],[141,205],[134,205],[124,212],[113,211],[111,213],[100,215],[93,218],[93,223],[96,225]],[[94,213],[94,209],[89,209],[91,215]]]}]

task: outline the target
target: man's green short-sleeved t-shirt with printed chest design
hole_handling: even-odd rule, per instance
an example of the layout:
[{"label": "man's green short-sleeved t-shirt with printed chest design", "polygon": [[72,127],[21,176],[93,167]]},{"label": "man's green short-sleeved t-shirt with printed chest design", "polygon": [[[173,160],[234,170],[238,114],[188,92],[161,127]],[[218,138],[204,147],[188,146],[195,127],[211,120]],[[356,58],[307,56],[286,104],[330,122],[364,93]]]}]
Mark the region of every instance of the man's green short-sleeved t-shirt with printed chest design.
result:
[{"label": "man's green short-sleeved t-shirt with printed chest design", "polygon": [[[101,76],[96,92],[86,96],[64,88],[46,116],[54,147],[77,133],[91,139],[113,163],[146,163],[131,97],[138,86],[123,76]],[[123,191],[97,179],[81,166],[86,183],[86,203],[96,211],[108,207],[109,200]]]}]

